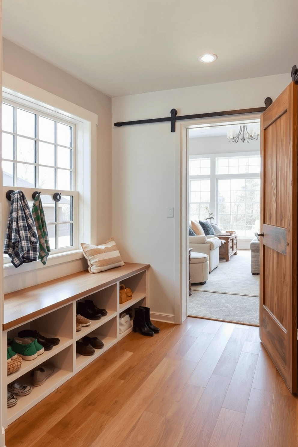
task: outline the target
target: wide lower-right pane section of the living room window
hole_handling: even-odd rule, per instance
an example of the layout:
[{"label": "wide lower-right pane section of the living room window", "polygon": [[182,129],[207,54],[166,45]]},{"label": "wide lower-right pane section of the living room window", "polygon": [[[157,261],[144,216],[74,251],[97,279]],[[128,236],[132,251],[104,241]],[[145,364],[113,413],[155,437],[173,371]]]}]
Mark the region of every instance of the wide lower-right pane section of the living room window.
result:
[{"label": "wide lower-right pane section of the living room window", "polygon": [[239,236],[254,236],[260,219],[260,179],[218,179],[218,225]]}]

